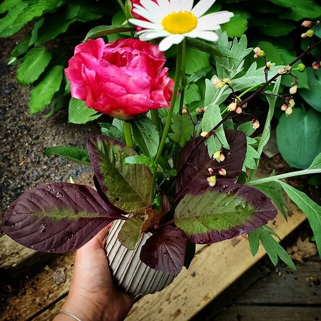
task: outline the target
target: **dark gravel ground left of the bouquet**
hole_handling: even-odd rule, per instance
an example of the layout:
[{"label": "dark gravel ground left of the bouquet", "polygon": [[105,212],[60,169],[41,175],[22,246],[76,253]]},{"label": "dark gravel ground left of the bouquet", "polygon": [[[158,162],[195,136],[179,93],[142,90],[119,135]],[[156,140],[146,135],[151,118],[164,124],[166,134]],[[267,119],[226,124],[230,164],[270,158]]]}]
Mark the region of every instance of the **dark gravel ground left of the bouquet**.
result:
[{"label": "dark gravel ground left of the bouquet", "polygon": [[8,66],[8,58],[24,31],[10,39],[0,40],[0,211],[25,190],[42,183],[69,181],[88,171],[62,157],[46,157],[49,146],[75,145],[84,147],[86,137],[99,133],[96,123],[68,124],[64,109],[46,119],[41,114],[30,115],[30,87],[16,81],[16,66]]}]

